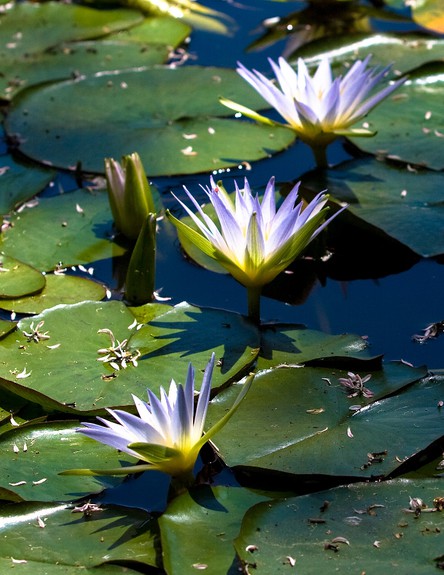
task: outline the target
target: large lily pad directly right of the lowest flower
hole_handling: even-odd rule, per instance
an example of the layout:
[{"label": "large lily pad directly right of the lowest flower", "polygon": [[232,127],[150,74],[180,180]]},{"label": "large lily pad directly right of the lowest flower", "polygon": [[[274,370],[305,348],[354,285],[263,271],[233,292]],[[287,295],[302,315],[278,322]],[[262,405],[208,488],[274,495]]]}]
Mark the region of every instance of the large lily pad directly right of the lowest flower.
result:
[{"label": "large lily pad directly right of the lowest flower", "polygon": [[[359,371],[361,377],[368,373]],[[442,436],[437,404],[444,380],[411,385],[427,371],[402,363],[370,373],[365,387],[371,397],[352,396],[353,390],[339,381],[350,376],[339,369],[284,367],[258,373],[230,425],[217,435],[221,456],[230,467],[297,475],[389,474],[400,460]],[[232,403],[232,394],[223,391],[210,404],[209,423]],[[372,461],[369,453],[375,454]]]}]

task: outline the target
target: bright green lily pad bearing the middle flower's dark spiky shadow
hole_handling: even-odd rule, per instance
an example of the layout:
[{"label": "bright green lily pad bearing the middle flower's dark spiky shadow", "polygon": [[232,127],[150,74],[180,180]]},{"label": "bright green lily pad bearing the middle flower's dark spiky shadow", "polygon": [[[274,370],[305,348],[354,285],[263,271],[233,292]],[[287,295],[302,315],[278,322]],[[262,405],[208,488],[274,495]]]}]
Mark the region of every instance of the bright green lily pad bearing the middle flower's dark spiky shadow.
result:
[{"label": "bright green lily pad bearing the middle flower's dark spiky shadow", "polygon": [[[111,406],[134,409],[132,393],[144,398],[147,387],[157,393],[171,379],[183,382],[189,362],[200,374],[212,351],[221,360],[214,388],[248,371],[259,335],[242,316],[188,304],[167,310],[141,329],[116,301],[59,305],[25,318],[2,340],[2,385],[49,410],[98,413]],[[98,361],[106,355],[99,350],[111,346],[110,334],[99,332],[104,329],[120,342],[129,340],[124,347],[137,367],[128,359],[117,371]],[[200,384],[198,375],[197,389]]]}]

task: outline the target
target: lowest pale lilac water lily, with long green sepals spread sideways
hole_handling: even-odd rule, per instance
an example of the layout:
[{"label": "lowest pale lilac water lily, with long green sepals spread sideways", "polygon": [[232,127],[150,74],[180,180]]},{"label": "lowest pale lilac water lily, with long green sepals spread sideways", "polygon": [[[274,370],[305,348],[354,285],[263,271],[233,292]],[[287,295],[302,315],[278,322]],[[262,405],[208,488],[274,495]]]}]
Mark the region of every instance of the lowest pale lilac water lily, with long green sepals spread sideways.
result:
[{"label": "lowest pale lilac water lily, with long green sepals spread sideways", "polygon": [[133,395],[138,416],[123,410],[108,409],[115,421],[102,417],[103,424],[82,423],[78,432],[141,459],[147,465],[117,469],[71,469],[64,475],[126,475],[156,469],[188,484],[201,447],[233,415],[247,393],[252,376],[244,384],[231,409],[203,434],[211,392],[214,353],[208,362],[195,407],[194,368],[189,364],[185,385],[171,381],[168,392],[160,388],[160,398],[148,389],[148,402]]}]

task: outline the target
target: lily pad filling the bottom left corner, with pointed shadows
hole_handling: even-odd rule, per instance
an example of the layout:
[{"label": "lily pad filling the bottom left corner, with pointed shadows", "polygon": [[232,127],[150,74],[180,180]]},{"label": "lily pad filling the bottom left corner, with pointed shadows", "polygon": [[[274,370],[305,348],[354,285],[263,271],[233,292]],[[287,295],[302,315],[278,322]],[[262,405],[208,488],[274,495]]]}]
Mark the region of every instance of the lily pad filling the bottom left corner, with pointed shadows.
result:
[{"label": "lily pad filling the bottom left corner, with pointed shadows", "polygon": [[[37,572],[45,569],[51,575],[58,573],[49,570],[55,564],[77,567],[77,570],[109,562],[123,566],[130,562],[139,570],[146,570],[147,565],[159,566],[155,549],[157,524],[148,513],[107,505],[88,519],[82,513],[72,513],[73,508],[65,503],[36,502],[3,506],[0,510],[2,563],[8,561],[10,568],[11,557],[38,562]],[[80,569],[80,572],[85,571]],[[104,570],[104,573],[108,572]]]}]

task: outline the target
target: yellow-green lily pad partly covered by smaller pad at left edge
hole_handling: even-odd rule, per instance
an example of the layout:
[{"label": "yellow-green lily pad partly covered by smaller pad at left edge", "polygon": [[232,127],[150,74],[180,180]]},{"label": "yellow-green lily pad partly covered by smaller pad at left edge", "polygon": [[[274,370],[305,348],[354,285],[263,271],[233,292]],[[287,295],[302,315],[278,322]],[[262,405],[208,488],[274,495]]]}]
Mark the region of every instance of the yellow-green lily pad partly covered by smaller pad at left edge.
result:
[{"label": "yellow-green lily pad partly covered by smaller pad at left edge", "polygon": [[0,299],[0,308],[16,313],[40,313],[59,304],[100,301],[105,295],[105,286],[95,281],[77,276],[49,274],[46,276],[46,285],[39,294]]}]

